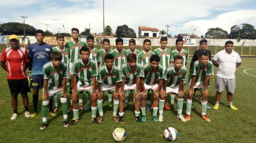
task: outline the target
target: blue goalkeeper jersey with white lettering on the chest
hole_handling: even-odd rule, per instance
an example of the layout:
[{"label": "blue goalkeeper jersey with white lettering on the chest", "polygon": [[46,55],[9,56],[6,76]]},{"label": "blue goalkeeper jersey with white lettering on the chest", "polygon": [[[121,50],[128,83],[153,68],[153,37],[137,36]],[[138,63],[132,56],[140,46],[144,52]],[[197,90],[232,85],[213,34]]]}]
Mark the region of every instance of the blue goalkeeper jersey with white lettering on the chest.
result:
[{"label": "blue goalkeeper jersey with white lettering on the chest", "polygon": [[32,75],[43,74],[43,66],[50,61],[52,47],[46,43],[34,43],[28,46],[28,56],[33,59]]}]

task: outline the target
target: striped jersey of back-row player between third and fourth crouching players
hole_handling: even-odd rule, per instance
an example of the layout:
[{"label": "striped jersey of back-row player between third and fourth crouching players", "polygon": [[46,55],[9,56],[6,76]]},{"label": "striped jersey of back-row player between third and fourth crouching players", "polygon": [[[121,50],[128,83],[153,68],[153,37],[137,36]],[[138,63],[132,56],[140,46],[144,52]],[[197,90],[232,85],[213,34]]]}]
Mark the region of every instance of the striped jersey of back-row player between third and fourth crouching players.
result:
[{"label": "striped jersey of back-row player between third and fourth crouching players", "polygon": [[118,69],[121,69],[121,65],[126,62],[126,56],[127,52],[125,49],[122,49],[122,51],[119,53],[117,49],[114,49],[110,52],[111,55],[114,57],[114,65],[118,67]]}]

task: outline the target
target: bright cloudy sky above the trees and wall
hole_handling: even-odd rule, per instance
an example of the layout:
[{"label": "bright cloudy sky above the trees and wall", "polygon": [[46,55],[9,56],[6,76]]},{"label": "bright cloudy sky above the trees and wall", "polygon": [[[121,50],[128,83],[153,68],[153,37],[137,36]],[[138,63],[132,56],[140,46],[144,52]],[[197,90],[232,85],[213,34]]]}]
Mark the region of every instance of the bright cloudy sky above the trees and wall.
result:
[{"label": "bright cloudy sky above the trees and wall", "polygon": [[[0,24],[23,22],[53,33],[103,32],[103,0],[1,0]],[[210,28],[251,24],[256,27],[256,0],[104,0],[105,26],[115,33],[119,25],[128,25],[138,36],[138,26],[167,30],[172,36],[192,33],[200,36]],[[64,25],[64,27],[63,27]],[[59,28],[59,29],[58,29]]]}]

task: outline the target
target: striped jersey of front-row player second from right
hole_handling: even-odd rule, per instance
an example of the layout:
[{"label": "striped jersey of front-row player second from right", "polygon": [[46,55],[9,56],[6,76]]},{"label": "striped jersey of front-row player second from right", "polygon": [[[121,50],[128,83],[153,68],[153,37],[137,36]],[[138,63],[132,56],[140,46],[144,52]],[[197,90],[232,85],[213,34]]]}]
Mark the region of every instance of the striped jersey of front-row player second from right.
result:
[{"label": "striped jersey of front-row player second from right", "polygon": [[174,66],[168,67],[165,71],[166,86],[174,87],[180,84],[180,80],[186,81],[186,73],[187,69],[185,67],[181,67],[180,71],[176,72]]}]

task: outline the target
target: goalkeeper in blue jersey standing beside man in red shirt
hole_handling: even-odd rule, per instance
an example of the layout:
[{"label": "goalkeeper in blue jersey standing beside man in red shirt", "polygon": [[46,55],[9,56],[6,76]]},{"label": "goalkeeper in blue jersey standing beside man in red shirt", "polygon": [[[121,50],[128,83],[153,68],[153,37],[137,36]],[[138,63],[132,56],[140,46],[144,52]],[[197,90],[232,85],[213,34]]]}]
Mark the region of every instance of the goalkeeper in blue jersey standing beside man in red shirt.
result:
[{"label": "goalkeeper in blue jersey standing beside man in red shirt", "polygon": [[[33,89],[34,112],[32,112],[30,115],[31,117],[34,117],[38,114],[38,92],[39,88],[43,88],[44,83],[43,65],[50,61],[50,53],[52,52],[52,47],[43,41],[44,31],[40,29],[36,30],[35,37],[37,42],[28,46],[28,57],[30,58],[28,73],[32,73],[33,79],[30,88]],[[49,114],[52,116],[57,116],[53,113],[52,110],[52,99],[49,102],[49,110]]]}]

